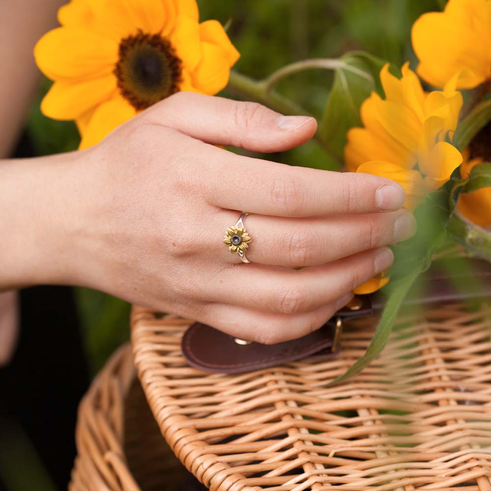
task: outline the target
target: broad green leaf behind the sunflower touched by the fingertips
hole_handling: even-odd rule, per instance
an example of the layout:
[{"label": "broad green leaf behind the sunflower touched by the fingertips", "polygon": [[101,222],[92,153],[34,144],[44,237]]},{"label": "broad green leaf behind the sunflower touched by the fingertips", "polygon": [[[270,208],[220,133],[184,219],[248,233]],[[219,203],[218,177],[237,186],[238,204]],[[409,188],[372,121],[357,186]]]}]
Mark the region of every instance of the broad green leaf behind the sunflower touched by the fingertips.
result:
[{"label": "broad green leaf behind the sunflower touched by the fingertips", "polygon": [[342,159],[348,130],[361,126],[361,103],[374,90],[383,95],[379,74],[386,62],[364,52],[347,53],[339,60],[320,131],[328,149]]}]

